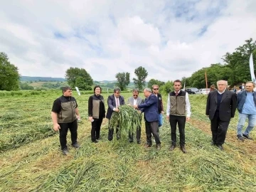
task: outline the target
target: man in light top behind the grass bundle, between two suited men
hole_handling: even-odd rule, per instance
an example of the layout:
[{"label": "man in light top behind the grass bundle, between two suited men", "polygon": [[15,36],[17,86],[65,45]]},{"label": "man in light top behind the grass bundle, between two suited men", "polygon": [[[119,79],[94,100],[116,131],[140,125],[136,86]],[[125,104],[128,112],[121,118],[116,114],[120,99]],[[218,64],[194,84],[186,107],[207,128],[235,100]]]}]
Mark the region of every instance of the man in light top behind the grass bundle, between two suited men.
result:
[{"label": "man in light top behind the grass bundle, between two suited men", "polygon": [[[143,100],[141,97],[139,97],[139,90],[134,89],[132,91],[132,97],[129,97],[127,104],[130,106],[134,106],[134,105],[140,105],[143,103]],[[140,112],[138,110],[138,112]],[[137,139],[137,144],[141,143],[141,134],[142,134],[142,125],[139,125],[136,129],[136,139]],[[129,133],[129,142],[133,142],[133,133]]]}]

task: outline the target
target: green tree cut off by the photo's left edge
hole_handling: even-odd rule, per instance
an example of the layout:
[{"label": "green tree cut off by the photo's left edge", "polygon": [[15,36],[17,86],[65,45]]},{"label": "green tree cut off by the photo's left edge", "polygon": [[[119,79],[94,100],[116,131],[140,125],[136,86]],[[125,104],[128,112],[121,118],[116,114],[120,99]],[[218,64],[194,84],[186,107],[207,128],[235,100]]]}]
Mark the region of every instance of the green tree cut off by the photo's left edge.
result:
[{"label": "green tree cut off by the photo's left edge", "polygon": [[6,53],[0,53],[0,90],[18,90],[18,68],[9,62]]}]

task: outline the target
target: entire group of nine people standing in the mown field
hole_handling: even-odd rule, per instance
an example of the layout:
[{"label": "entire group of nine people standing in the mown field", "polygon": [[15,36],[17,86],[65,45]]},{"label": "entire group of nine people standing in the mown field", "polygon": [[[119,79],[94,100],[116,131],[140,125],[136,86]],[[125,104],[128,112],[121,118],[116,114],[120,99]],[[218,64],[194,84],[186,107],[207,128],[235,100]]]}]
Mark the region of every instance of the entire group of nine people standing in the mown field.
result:
[{"label": "entire group of nine people standing in the mown field", "polygon": [[[208,94],[206,104],[206,115],[210,119],[210,129],[212,132],[212,144],[223,150],[225,136],[228,130],[230,119],[235,116],[235,110],[238,108],[238,139],[252,139],[249,134],[256,124],[256,95],[253,92],[255,87],[254,82],[247,82],[245,90],[238,92],[229,91],[226,89],[228,82],[219,80],[217,82],[217,90],[211,91]],[[191,104],[189,102],[188,93],[181,90],[181,80],[174,81],[174,91],[169,92],[166,119],[169,120],[171,126],[171,147],[173,151],[176,148],[176,127],[180,134],[179,146],[183,153],[186,153],[185,148],[185,125],[186,121],[191,117]],[[91,140],[97,143],[100,139],[100,127],[102,120],[106,117],[111,119],[113,112],[119,112],[119,106],[125,105],[124,97],[120,95],[119,88],[114,89],[114,93],[107,98],[107,114],[105,116],[105,101],[101,95],[102,88],[94,87],[94,95],[88,100],[88,119],[92,124]],[[152,146],[152,136],[156,142],[156,149],[161,149],[161,141],[159,137],[159,127],[163,124],[163,100],[159,94],[159,86],[153,85],[152,88],[145,88],[143,100],[139,97],[139,90],[134,89],[132,97],[127,100],[127,105],[134,107],[134,110],[144,112],[144,122],[146,128],[146,148]],[[78,120],[80,114],[78,111],[78,103],[71,96],[71,87],[63,87],[63,95],[53,102],[51,117],[53,119],[53,129],[60,132],[60,146],[63,154],[68,154],[67,133],[70,129],[72,145],[79,148],[78,145]],[[249,124],[244,133],[245,120],[249,119]],[[136,139],[137,144],[141,144],[141,126],[137,127]],[[119,139],[119,129],[116,129],[116,137]],[[112,141],[114,128],[108,127],[108,140]],[[133,142],[134,135],[129,133],[129,142]],[[245,138],[245,139],[244,139]]]}]

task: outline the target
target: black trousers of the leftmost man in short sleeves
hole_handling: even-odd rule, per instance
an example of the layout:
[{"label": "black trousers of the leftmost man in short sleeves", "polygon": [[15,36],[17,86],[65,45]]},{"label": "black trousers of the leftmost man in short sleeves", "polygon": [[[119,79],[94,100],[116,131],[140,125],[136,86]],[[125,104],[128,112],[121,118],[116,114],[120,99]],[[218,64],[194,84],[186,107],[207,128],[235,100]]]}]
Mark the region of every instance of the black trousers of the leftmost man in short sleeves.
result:
[{"label": "black trousers of the leftmost man in short sleeves", "polygon": [[75,144],[78,142],[78,120],[75,119],[75,121],[70,122],[70,123],[59,123],[60,125],[60,146],[61,149],[65,149],[67,147],[67,134],[68,134],[68,129],[70,129],[70,134],[71,134],[71,142],[72,144]]}]

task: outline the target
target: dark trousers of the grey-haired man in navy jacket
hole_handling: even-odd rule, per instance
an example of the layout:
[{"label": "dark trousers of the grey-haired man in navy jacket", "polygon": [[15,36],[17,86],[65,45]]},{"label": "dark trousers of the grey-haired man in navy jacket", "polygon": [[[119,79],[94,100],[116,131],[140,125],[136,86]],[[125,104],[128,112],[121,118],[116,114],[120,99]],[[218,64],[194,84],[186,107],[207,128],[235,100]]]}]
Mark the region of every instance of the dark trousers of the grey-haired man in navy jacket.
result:
[{"label": "dark trousers of the grey-haired man in navy jacket", "polygon": [[146,143],[149,145],[152,144],[152,134],[153,134],[156,144],[161,144],[160,137],[159,137],[159,122],[145,121],[145,126],[146,126]]}]

